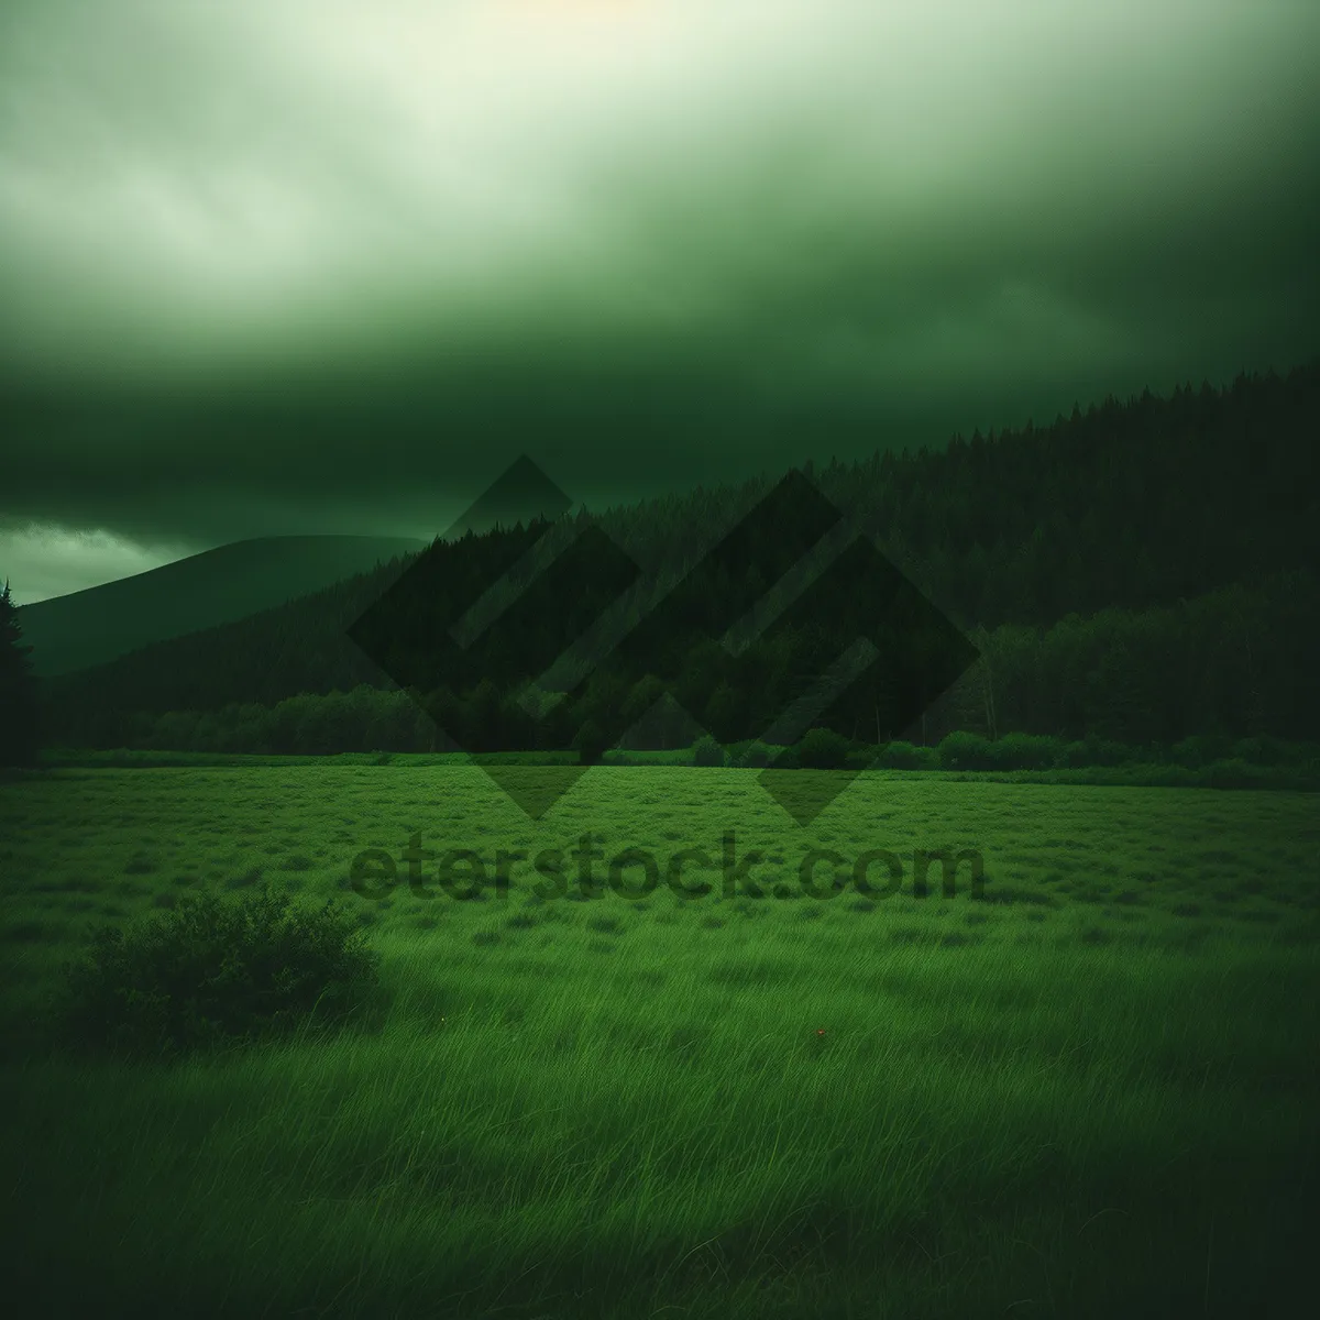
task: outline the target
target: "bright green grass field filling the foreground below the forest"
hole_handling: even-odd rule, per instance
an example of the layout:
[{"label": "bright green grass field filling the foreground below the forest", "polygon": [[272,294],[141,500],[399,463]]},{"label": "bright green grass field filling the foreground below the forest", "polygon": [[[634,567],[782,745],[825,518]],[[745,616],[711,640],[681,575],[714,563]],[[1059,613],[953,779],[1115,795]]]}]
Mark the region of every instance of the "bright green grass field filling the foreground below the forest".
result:
[{"label": "bright green grass field filling the foreground below the forest", "polygon": [[[1304,1313],[1315,804],[873,772],[799,828],[738,770],[595,768],[539,822],[463,766],[0,784],[9,1287],[44,1316]],[[494,863],[594,834],[663,874],[726,833],[764,896],[543,899],[528,862],[504,898],[348,887],[413,836]],[[942,847],[981,898],[939,866],[913,895]],[[810,898],[810,849],[896,853],[899,892]],[[46,1048],[90,921],[263,880],[358,913],[379,1020],[176,1067]]]}]

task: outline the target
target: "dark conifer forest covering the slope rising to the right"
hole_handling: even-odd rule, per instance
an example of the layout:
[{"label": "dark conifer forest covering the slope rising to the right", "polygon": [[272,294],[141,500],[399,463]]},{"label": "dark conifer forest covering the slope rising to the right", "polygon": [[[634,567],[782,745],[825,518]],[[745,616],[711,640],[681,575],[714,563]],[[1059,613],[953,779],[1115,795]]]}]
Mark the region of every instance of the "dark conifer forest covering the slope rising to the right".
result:
[{"label": "dark conifer forest covering the slope rising to the right", "polygon": [[[286,606],[45,680],[48,742],[672,747],[690,742],[692,719],[737,742],[764,735],[859,634],[880,657],[816,719],[853,741],[1320,739],[1317,391],[1312,363],[1224,389],[1106,399],[936,453],[807,465],[808,480],[583,511],[471,647],[450,624],[549,524],[437,541]],[[902,577],[854,544],[801,595],[780,585],[830,531],[830,506]],[[710,528],[729,527],[704,558]],[[593,655],[593,620],[620,595],[622,640]],[[774,622],[734,653],[718,639],[756,602]],[[597,659],[591,676],[558,685],[557,704],[553,682],[524,690],[565,649]],[[655,710],[665,692],[677,706]]]}]

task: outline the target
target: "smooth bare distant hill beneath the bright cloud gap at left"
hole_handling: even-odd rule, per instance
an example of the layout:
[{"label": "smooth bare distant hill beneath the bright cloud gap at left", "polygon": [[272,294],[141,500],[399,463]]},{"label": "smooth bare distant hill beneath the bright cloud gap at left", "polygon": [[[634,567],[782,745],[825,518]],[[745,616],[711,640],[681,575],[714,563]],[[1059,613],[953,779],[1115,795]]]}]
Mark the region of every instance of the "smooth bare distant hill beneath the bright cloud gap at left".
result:
[{"label": "smooth bare distant hill beneath the bright cloud gap at left", "polygon": [[318,591],[428,543],[403,536],[263,536],[147,573],[21,606],[38,675],[70,673],[129,651],[232,623]]}]

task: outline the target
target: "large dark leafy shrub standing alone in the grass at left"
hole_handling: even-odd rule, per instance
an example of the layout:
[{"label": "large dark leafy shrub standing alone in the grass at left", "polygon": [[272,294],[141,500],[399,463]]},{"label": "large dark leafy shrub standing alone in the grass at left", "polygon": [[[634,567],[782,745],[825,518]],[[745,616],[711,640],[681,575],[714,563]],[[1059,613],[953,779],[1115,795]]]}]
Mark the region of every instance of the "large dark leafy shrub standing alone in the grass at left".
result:
[{"label": "large dark leafy shrub standing alone in the grass at left", "polygon": [[92,932],[65,968],[65,1027],[79,1048],[172,1057],[327,1026],[378,989],[364,940],[333,899],[301,909],[269,884],[242,900],[190,894],[153,920]]}]

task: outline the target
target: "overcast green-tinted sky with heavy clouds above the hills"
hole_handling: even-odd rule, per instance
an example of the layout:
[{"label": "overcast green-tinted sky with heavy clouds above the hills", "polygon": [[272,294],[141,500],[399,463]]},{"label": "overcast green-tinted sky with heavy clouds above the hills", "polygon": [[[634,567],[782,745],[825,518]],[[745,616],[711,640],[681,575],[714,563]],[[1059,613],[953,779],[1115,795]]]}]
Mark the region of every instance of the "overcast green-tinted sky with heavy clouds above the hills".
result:
[{"label": "overcast green-tinted sky with heavy clouds above the hills", "polygon": [[1286,370],[1317,111],[1313,0],[4,0],[0,579]]}]

